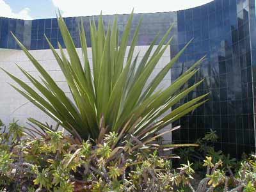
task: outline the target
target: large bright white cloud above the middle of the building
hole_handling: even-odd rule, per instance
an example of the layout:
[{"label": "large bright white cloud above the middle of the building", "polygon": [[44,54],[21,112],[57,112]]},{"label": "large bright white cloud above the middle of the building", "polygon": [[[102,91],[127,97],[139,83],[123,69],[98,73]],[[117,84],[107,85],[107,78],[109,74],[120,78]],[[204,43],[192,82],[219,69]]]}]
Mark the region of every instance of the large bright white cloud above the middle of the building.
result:
[{"label": "large bright white cloud above the middle of the building", "polygon": [[212,0],[52,0],[63,17],[131,13],[171,12],[192,8]]}]

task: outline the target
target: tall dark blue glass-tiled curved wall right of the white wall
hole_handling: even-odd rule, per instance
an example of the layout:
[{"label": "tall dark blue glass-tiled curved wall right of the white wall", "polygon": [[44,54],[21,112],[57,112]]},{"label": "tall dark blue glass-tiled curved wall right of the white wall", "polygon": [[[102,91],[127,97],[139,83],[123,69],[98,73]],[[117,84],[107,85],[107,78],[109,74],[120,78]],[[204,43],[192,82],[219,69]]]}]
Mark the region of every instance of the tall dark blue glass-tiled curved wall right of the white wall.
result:
[{"label": "tall dark blue glass-tiled curved wall right of the white wall", "polygon": [[[250,18],[250,12],[253,12]],[[191,37],[193,44],[180,58],[172,72],[173,80],[195,60],[207,56],[195,81],[204,84],[189,95],[211,93],[209,102],[177,122],[177,142],[191,142],[209,129],[217,131],[216,147],[234,156],[255,150],[253,112],[252,33],[255,1],[216,0],[198,8],[177,13],[178,44],[182,47]],[[180,48],[179,48],[180,49]],[[193,82],[195,82],[193,81]],[[191,82],[191,83],[193,83]]]}]

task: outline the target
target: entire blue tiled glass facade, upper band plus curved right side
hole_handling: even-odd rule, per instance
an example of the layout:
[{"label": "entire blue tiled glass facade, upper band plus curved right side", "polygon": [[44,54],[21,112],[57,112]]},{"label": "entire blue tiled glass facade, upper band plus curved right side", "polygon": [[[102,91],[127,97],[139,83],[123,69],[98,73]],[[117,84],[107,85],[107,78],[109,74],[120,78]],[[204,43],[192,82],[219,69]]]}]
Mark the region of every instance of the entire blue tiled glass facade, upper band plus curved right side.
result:
[{"label": "entire blue tiled glass facade, upper band plus curved right side", "polygon": [[[255,0],[215,0],[211,3],[178,12],[143,13],[134,15],[135,31],[141,16],[139,45],[148,45],[159,33],[174,24],[171,57],[193,38],[193,42],[172,69],[172,81],[196,60],[206,60],[195,78],[205,77],[204,84],[186,100],[211,93],[209,102],[175,124],[182,129],[173,132],[173,141],[191,143],[204,136],[209,129],[217,131],[220,141],[216,147],[240,156],[255,150],[255,98],[256,98],[256,16]],[[105,15],[107,25],[113,15]],[[120,35],[129,15],[118,16]],[[95,16],[97,21],[99,17]],[[79,44],[79,22],[83,20],[90,47],[90,19],[92,17],[65,18],[67,27]],[[28,49],[49,49],[44,34],[54,47],[58,42],[65,47],[56,19],[17,20],[0,17],[0,48],[19,49],[10,31]]]}]

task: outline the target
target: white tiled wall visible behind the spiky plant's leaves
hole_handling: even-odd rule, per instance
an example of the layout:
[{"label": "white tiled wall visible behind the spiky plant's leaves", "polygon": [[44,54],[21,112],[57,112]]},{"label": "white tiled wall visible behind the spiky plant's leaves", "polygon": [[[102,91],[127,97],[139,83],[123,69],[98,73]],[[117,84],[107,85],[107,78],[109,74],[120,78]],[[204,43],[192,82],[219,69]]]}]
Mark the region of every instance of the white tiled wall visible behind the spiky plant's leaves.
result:
[{"label": "white tiled wall visible behind the spiky plant's leaves", "polygon": [[[148,46],[136,47],[134,56],[140,52],[140,61],[142,56],[145,54],[145,51],[147,51],[147,48]],[[36,60],[38,60],[45,67],[49,74],[51,74],[53,79],[60,84],[65,93],[70,95],[65,78],[60,70],[60,67],[58,67],[51,50],[36,50],[30,52],[33,54],[33,56],[35,56]],[[82,56],[81,49],[77,49],[77,52],[79,53],[79,56]],[[90,50],[88,51],[88,57],[90,61],[92,61],[92,52]],[[170,47],[168,47],[166,52],[164,52],[163,57],[154,69],[150,79],[156,76],[157,72],[159,72],[159,70],[161,70],[161,68],[163,68],[168,61],[170,61]],[[15,63],[25,68],[26,71],[34,77],[38,77],[38,72],[36,71],[35,67],[33,67],[22,51],[0,49],[0,67],[3,67],[5,70],[11,72],[26,83],[31,84],[29,83],[28,79],[24,77],[22,72],[20,72]],[[36,118],[42,122],[48,122],[49,124],[54,124],[51,118],[46,116],[44,113],[42,113],[42,111],[28,102],[27,99],[22,97],[20,93],[16,92],[8,83],[13,83],[12,79],[10,79],[10,77],[7,76],[2,70],[0,70],[0,119],[4,122],[4,124],[9,124],[13,118],[15,118],[16,120],[19,120],[20,124],[26,125],[27,118],[29,117]],[[171,74],[168,72],[160,87],[166,88],[170,85],[170,83]],[[170,136],[168,137],[168,140],[170,140]]]}]

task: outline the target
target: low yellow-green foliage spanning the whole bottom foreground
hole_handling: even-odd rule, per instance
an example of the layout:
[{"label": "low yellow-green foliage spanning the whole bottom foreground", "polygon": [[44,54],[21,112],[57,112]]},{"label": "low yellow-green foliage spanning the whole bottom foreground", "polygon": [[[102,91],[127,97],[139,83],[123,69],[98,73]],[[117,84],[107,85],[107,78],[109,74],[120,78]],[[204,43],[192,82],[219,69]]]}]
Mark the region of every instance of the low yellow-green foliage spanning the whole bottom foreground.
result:
[{"label": "low yellow-green foliage spanning the whole bottom foreground", "polygon": [[17,122],[10,127],[0,135],[2,191],[183,191],[185,186],[196,192],[256,190],[255,156],[244,160],[236,175],[225,172],[220,159],[212,163],[206,157],[207,173],[195,186],[189,161],[173,168],[172,155],[159,156],[152,148],[131,150],[128,141],[113,147],[115,134],[105,134],[93,145],[58,131],[30,140]]}]

